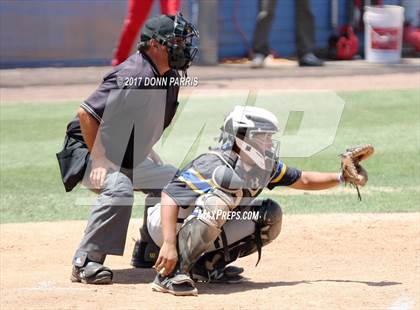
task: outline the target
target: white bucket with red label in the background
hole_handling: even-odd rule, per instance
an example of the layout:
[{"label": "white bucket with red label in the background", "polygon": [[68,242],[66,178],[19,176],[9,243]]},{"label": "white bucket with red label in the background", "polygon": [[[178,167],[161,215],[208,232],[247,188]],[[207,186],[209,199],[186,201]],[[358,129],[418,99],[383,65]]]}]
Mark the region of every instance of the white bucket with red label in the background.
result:
[{"label": "white bucket with red label in the background", "polygon": [[404,8],[397,5],[366,6],[365,58],[368,62],[398,63],[404,23]]}]

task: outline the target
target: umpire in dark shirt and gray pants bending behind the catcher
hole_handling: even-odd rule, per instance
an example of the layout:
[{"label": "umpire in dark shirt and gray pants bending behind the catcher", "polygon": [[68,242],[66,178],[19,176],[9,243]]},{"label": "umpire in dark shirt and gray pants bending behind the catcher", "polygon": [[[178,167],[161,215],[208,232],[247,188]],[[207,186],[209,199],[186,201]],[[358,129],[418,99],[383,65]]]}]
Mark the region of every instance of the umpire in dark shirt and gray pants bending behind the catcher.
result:
[{"label": "umpire in dark shirt and gray pants bending behind the catcher", "polygon": [[149,19],[137,53],[104,77],[67,126],[57,154],[66,191],[82,182],[98,193],[73,258],[73,282],[112,283],[103,263],[107,254],[123,255],[133,188],[159,190],[161,180],[150,176],[167,180],[175,172],[156,168],[160,159],[152,147],[175,115],[179,84],[171,81],[190,66],[194,37],[198,32],[181,14]]}]

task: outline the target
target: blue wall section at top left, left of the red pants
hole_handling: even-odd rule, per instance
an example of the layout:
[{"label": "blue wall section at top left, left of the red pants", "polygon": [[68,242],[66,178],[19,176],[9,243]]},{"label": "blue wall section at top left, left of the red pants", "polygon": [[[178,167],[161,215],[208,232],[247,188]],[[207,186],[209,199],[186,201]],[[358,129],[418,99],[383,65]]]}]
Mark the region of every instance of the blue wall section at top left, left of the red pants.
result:
[{"label": "blue wall section at top left, left of the red pants", "polygon": [[126,1],[0,1],[4,66],[83,65],[109,60]]}]

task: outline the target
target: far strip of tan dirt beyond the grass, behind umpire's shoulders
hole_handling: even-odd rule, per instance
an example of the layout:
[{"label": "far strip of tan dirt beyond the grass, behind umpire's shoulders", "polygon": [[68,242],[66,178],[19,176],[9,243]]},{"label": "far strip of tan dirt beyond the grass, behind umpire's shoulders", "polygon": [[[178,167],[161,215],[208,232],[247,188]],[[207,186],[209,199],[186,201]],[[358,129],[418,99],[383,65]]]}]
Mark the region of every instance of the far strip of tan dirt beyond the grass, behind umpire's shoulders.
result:
[{"label": "far strip of tan dirt beyond the grass, behind umpire's shoulders", "polygon": [[[395,65],[330,61],[325,67],[300,68],[293,61],[273,61],[264,69],[249,64],[192,66],[200,89],[324,89],[333,91],[419,88],[420,59]],[[110,67],[0,70],[1,102],[85,100]],[[180,94],[194,90],[181,88]]]}]

